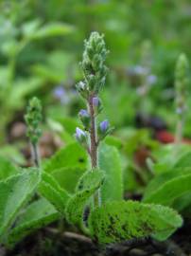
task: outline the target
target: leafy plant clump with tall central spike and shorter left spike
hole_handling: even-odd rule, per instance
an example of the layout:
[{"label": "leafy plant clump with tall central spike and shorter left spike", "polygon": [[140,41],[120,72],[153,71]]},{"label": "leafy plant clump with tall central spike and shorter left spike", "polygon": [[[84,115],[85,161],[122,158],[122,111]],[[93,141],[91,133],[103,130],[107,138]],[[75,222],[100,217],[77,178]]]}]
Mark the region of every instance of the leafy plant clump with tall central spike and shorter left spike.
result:
[{"label": "leafy plant clump with tall central spike and shorter left spike", "polygon": [[78,115],[83,128],[77,127],[75,136],[80,145],[69,144],[41,165],[37,158],[41,105],[37,99],[30,101],[26,124],[36,167],[9,172],[0,181],[0,241],[7,247],[61,218],[99,244],[148,236],[163,241],[182,226],[175,210],[123,200],[120,155],[104,141],[113,128],[108,120],[96,119],[103,109],[99,92],[108,71],[107,54],[103,35],[93,32],[85,41],[80,64],[84,80],[77,85],[87,105]]}]

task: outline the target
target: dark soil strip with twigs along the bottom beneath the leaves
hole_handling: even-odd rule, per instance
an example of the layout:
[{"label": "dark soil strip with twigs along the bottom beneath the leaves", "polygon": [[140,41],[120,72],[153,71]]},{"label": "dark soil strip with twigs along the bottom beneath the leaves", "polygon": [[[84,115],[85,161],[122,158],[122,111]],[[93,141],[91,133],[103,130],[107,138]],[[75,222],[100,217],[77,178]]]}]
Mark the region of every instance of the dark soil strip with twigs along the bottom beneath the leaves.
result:
[{"label": "dark soil strip with twigs along the bottom beneath the leaves", "polygon": [[186,221],[164,243],[150,238],[98,247],[78,232],[59,233],[54,227],[28,236],[13,250],[0,248],[0,256],[191,256],[191,222]]}]

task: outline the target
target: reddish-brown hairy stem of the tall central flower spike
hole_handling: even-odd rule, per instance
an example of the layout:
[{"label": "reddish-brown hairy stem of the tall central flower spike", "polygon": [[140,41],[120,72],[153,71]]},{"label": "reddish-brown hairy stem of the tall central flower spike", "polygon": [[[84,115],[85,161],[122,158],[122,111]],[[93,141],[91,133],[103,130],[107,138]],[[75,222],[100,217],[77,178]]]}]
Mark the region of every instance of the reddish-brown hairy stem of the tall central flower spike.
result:
[{"label": "reddish-brown hairy stem of the tall central flower spike", "polygon": [[[94,95],[89,97],[89,110],[90,110],[90,158],[91,158],[91,165],[92,170],[97,168],[97,141],[96,141],[96,117],[95,117],[95,110],[93,105],[93,98]],[[96,192],[94,195],[94,207],[99,205],[99,192]]]}]

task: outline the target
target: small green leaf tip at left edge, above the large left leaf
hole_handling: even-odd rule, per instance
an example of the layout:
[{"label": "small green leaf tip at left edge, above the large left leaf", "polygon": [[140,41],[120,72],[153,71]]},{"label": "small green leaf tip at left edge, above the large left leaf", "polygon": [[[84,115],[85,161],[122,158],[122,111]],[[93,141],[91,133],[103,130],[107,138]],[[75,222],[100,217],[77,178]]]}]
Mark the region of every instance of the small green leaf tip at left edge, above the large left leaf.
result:
[{"label": "small green leaf tip at left edge, above the large left leaf", "polygon": [[16,166],[14,166],[7,158],[0,155],[0,180],[4,180],[15,174],[19,174]]}]

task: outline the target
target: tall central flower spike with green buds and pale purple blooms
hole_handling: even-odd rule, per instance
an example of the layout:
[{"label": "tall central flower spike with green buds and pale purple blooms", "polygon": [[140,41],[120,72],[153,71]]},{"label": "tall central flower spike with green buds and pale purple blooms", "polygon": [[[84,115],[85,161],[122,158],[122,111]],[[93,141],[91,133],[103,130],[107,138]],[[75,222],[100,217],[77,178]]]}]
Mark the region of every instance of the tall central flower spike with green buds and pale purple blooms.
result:
[{"label": "tall central flower spike with green buds and pale purple blooms", "polygon": [[[106,80],[108,68],[105,60],[108,54],[103,35],[92,32],[85,48],[80,63],[83,72],[83,81],[78,82],[77,89],[80,96],[86,101],[87,109],[79,111],[78,117],[83,124],[84,131],[77,128],[76,137],[86,148],[91,158],[92,170],[97,168],[97,148],[99,142],[110,132],[108,120],[97,125],[96,117],[102,110],[102,104],[98,98],[100,90]],[[95,204],[98,204],[97,195]]]}]

